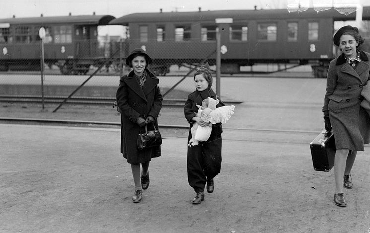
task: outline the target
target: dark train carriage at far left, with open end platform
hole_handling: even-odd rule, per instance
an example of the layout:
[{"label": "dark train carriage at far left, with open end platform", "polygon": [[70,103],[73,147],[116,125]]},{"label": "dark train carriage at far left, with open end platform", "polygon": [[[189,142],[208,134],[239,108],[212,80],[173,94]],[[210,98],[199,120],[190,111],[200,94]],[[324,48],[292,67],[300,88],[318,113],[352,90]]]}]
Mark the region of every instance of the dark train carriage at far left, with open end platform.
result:
[{"label": "dark train carriage at far left, with open end platform", "polygon": [[0,71],[41,69],[39,29],[43,27],[45,63],[57,65],[62,74],[85,74],[90,65],[107,57],[97,27],[112,19],[95,14],[0,19]]}]

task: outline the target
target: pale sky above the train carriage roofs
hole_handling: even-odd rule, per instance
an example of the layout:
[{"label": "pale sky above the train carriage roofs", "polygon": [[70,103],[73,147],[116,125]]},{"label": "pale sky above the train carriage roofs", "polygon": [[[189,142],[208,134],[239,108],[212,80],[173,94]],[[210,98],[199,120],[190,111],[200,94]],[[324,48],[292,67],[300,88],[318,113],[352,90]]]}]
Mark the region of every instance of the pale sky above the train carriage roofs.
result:
[{"label": "pale sky above the train carriage roofs", "polygon": [[[224,9],[282,9],[290,5],[331,6],[332,4],[370,6],[369,0],[0,0],[0,17],[39,17],[72,15],[112,15],[116,18],[139,12],[202,11]],[[120,34],[112,26],[109,34]],[[107,29],[105,29],[107,30]],[[116,32],[117,31],[117,32]],[[108,29],[109,32],[109,29]],[[105,34],[106,31],[99,34]]]}]

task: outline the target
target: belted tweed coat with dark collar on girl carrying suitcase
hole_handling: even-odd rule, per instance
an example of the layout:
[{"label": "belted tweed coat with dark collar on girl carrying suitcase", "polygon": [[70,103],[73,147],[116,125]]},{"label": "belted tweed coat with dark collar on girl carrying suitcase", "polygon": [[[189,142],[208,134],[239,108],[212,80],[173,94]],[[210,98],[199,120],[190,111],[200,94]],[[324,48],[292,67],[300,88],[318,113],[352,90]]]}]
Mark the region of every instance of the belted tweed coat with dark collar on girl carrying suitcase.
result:
[{"label": "belted tweed coat with dark collar on girl carrying suitcase", "polygon": [[330,62],[322,111],[329,114],[336,149],[364,151],[370,142],[370,119],[360,106],[361,91],[370,78],[370,54],[359,51],[354,69],[344,54]]}]

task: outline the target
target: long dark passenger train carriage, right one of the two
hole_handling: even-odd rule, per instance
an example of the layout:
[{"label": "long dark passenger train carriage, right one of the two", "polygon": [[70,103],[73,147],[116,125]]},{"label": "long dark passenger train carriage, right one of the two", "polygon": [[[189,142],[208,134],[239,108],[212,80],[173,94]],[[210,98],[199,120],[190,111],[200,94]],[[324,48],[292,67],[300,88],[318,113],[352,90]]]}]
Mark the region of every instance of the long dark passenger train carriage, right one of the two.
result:
[{"label": "long dark passenger train carriage, right one of the two", "polygon": [[[369,8],[363,18],[369,20]],[[335,9],[289,12],[273,10],[218,10],[197,12],[134,13],[112,20],[127,27],[129,51],[145,47],[154,69],[165,74],[173,64],[202,60],[215,64],[216,31],[227,52],[221,55],[221,72],[238,73],[241,66],[257,63],[311,64],[315,76],[325,77],[335,57],[334,21],[355,20]],[[218,22],[216,22],[218,19]]]}]

